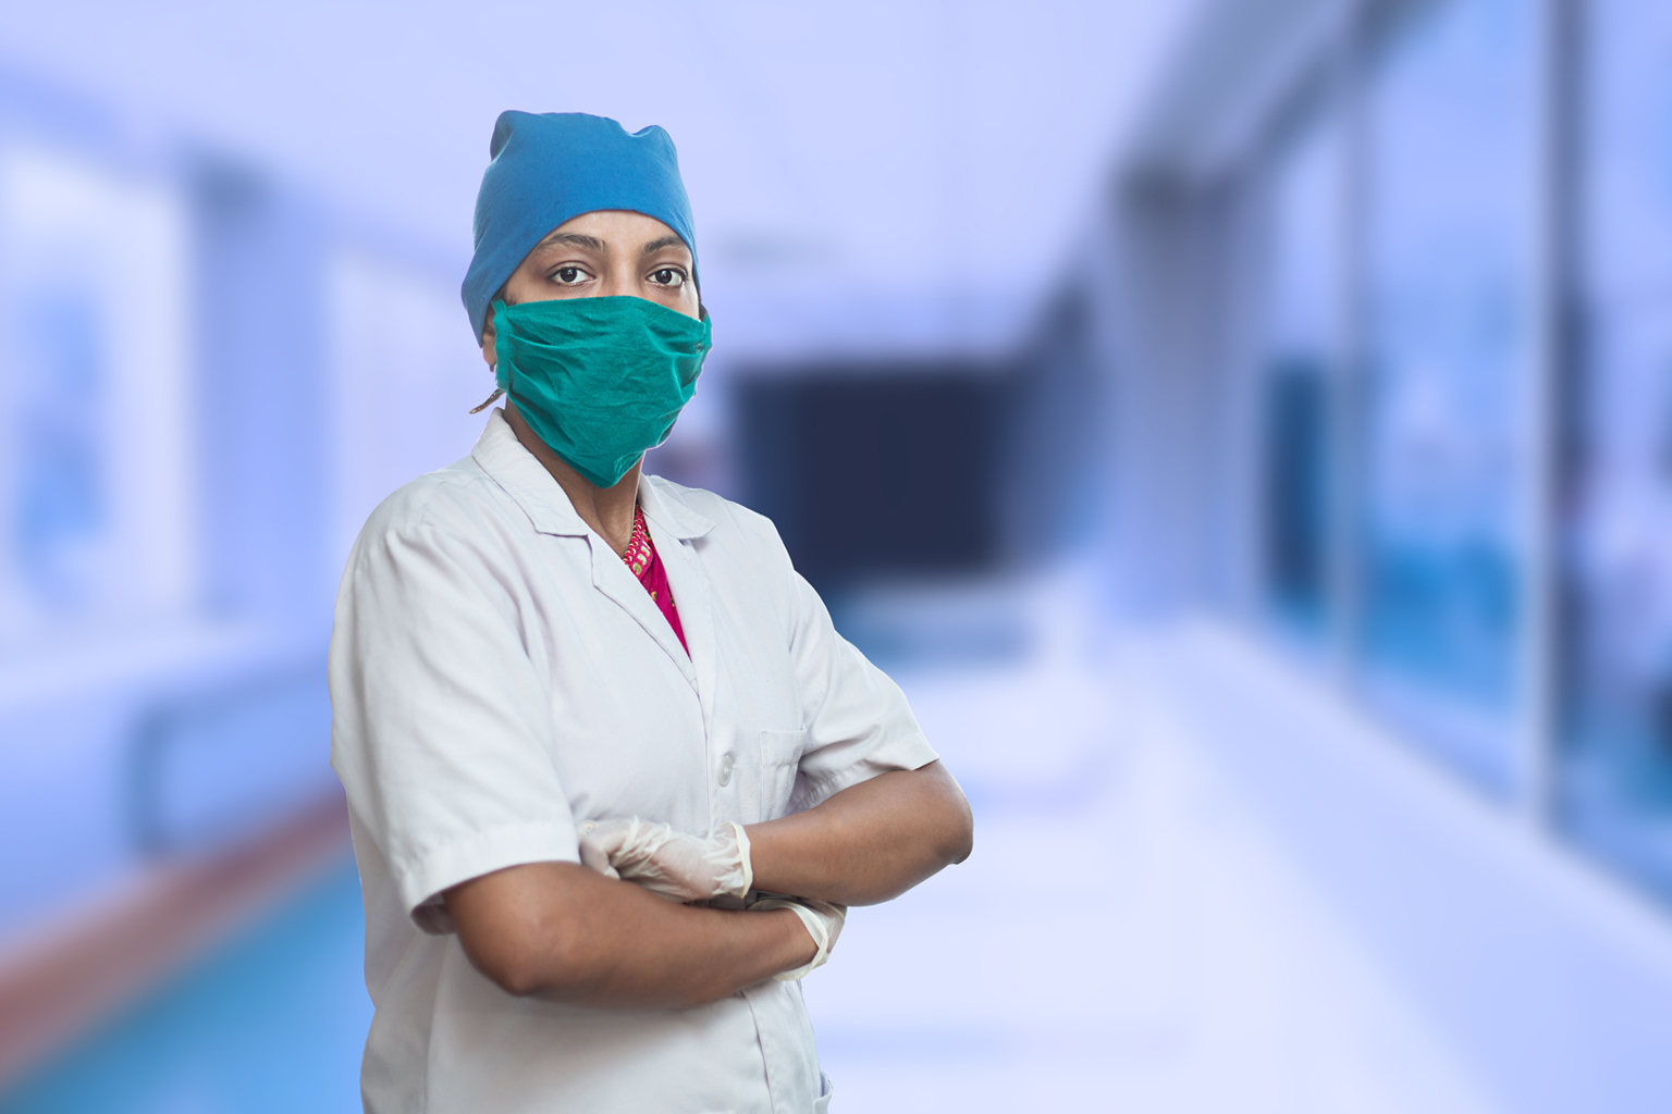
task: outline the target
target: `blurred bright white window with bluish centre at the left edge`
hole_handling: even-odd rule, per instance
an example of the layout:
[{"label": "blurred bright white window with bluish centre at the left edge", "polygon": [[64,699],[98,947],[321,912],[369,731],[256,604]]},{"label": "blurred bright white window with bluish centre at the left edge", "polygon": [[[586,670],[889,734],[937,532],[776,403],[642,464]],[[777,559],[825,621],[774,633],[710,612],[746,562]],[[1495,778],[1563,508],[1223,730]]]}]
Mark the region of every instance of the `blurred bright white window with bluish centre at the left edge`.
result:
[{"label": "blurred bright white window with bluish centre at the left edge", "polygon": [[0,144],[0,655],[192,603],[186,217]]}]

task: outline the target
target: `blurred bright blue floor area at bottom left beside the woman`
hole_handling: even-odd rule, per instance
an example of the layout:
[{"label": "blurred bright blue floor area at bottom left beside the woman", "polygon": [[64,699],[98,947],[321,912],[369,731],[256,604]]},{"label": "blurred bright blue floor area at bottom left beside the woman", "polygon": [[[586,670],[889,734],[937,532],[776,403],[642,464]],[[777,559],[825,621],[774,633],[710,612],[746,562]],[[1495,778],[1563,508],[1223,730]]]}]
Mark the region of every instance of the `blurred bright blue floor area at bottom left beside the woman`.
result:
[{"label": "blurred bright blue floor area at bottom left beside the woman", "polygon": [[344,860],[0,1097],[0,1114],[359,1111],[371,1024]]}]

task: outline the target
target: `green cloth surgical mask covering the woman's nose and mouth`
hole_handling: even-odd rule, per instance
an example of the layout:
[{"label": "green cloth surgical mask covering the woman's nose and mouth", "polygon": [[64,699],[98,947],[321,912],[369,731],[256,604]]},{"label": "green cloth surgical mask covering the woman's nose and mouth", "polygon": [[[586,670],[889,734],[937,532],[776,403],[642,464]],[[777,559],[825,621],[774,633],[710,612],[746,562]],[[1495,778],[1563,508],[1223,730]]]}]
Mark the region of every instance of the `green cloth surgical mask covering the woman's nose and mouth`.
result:
[{"label": "green cloth surgical mask covering the woman's nose and mouth", "polygon": [[712,347],[707,311],[697,321],[642,297],[495,299],[493,332],[500,391],[600,488],[667,439]]}]

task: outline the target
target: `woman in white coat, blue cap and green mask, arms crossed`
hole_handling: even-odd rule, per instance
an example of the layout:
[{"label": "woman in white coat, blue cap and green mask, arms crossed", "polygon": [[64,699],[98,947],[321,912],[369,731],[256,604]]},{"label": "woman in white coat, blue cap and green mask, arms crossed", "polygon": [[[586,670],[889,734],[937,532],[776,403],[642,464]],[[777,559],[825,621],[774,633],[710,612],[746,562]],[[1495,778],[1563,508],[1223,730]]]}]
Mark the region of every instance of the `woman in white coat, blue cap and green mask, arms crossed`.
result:
[{"label": "woman in white coat, blue cap and green mask, arms crossed", "polygon": [[490,152],[463,299],[507,401],[371,514],[331,640],[364,1106],[823,1111],[796,979],[968,805],[772,524],[640,473],[709,349],[672,140],[507,112]]}]

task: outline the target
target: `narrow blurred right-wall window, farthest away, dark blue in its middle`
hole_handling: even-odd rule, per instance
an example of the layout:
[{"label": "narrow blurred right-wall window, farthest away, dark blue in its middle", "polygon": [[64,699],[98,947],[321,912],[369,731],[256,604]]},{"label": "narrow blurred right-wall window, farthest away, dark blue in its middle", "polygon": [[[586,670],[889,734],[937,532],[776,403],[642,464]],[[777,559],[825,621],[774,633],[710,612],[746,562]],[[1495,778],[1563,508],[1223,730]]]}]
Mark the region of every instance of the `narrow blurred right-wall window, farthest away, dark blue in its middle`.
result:
[{"label": "narrow blurred right-wall window, farthest away, dark blue in its middle", "polygon": [[1261,558],[1281,620],[1321,631],[1329,605],[1331,411],[1341,319],[1341,134],[1309,117],[1271,182],[1271,274],[1261,376]]}]

